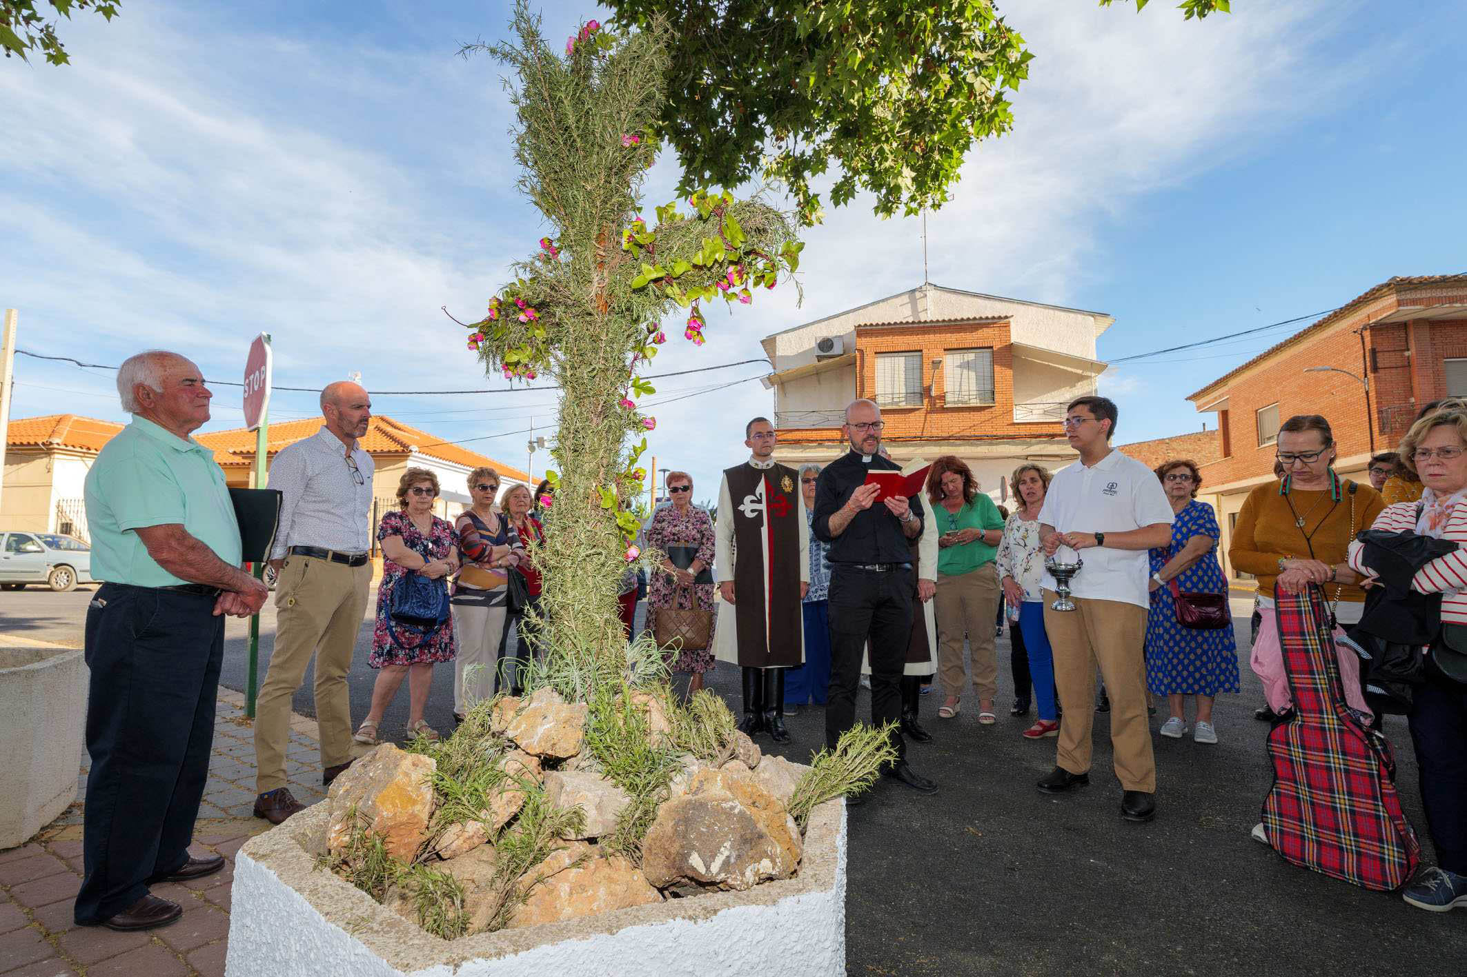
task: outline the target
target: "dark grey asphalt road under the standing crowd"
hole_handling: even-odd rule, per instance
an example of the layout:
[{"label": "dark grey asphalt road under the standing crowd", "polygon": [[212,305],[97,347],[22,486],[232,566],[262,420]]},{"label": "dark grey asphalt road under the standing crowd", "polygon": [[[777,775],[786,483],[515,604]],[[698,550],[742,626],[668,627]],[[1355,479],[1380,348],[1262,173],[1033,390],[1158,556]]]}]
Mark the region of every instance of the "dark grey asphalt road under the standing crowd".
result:
[{"label": "dark grey asphalt road under the standing crowd", "polygon": [[[87,599],[84,592],[0,593],[0,631],[45,640],[69,634],[76,643]],[[1238,630],[1245,642],[1245,620]],[[268,611],[263,631],[261,674],[274,631]],[[227,633],[224,684],[244,688],[244,625],[230,621]],[[370,696],[368,636],[364,627],[351,675],[356,718]],[[1000,653],[1008,653],[1006,639]],[[446,729],[452,672],[436,672],[427,718]],[[735,671],[720,668],[711,680],[736,706]],[[940,721],[936,696],[924,697],[923,718],[937,740],[912,744],[910,757],[942,790],[917,797],[883,782],[852,810],[849,973],[1467,973],[1461,911],[1413,910],[1398,896],[1291,867],[1248,839],[1272,772],[1265,725],[1251,718],[1262,693],[1245,665],[1243,688],[1219,703],[1218,746],[1156,738],[1160,813],[1150,825],[1118,816],[1106,715],[1096,716],[1091,784],[1053,798],[1033,785],[1053,765],[1053,741],[1022,740],[1028,719],[1005,713],[980,727],[970,700],[956,719]],[[1006,669],[1000,700],[1011,700]],[[295,707],[311,715],[308,691]],[[405,721],[406,690],[383,732],[400,737]],[[807,759],[822,740],[822,713],[792,716],[789,727],[795,743],[779,753]],[[1430,852],[1404,721],[1388,718],[1386,732],[1407,814]],[[764,738],[760,746],[770,747]]]}]

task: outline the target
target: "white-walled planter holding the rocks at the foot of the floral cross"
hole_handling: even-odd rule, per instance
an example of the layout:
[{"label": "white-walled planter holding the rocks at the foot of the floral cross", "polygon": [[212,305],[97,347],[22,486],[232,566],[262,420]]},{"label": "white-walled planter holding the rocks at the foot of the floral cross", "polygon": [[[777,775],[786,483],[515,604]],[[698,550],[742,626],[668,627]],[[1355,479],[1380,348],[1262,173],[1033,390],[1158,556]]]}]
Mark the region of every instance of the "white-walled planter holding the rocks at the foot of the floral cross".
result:
[{"label": "white-walled planter holding the rocks at the foot of the floral cross", "polygon": [[235,863],[226,977],[813,977],[845,973],[845,803],[810,817],[800,876],[566,923],[428,936],[330,872],[302,841],[326,806],[252,838]]}]

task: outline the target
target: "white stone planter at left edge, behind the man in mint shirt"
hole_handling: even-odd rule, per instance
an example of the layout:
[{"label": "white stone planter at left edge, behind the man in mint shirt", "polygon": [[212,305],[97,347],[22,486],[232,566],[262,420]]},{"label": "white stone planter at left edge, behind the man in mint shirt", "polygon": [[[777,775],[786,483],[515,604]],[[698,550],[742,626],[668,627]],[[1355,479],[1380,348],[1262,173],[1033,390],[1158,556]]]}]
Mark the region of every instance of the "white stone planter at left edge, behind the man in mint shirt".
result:
[{"label": "white stone planter at left edge, behind the man in mint shirt", "polygon": [[85,722],[79,647],[0,647],[0,743],[10,757],[0,848],[23,845],[76,800]]}]

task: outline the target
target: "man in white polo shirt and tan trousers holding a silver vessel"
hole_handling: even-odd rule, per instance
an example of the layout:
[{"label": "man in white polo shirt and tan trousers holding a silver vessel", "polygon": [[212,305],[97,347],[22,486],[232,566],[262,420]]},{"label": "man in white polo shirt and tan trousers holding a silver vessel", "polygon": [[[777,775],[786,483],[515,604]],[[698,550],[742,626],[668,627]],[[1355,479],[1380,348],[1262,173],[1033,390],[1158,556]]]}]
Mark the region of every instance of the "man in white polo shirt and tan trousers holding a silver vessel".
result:
[{"label": "man in white polo shirt and tan trousers holding a silver vessel", "polygon": [[[1090,782],[1096,665],[1111,694],[1111,746],[1121,781],[1121,816],[1156,816],[1156,759],[1146,713],[1146,551],[1171,542],[1172,507],[1156,473],[1111,447],[1116,407],[1081,397],[1065,410],[1065,435],[1080,461],[1049,485],[1039,513],[1045,554],[1084,567],[1071,580],[1074,611],[1055,611],[1055,579],[1045,574],[1045,630],[1055,649],[1055,687],[1064,715],[1055,769],[1039,790],[1059,794]],[[1064,548],[1064,549],[1061,549]],[[1074,551],[1074,552],[1071,552]]]}]

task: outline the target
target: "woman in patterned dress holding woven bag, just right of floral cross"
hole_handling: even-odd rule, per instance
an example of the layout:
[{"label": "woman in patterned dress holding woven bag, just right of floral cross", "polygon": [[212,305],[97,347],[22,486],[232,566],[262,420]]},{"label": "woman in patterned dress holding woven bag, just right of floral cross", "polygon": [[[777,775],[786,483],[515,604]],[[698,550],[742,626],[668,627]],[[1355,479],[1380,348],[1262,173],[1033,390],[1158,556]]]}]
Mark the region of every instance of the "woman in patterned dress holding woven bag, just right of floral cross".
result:
[{"label": "woman in patterned dress holding woven bag, just right of floral cross", "polygon": [[672,505],[659,508],[647,523],[647,545],[657,568],[647,590],[648,617],[660,609],[707,611],[709,644],[678,649],[672,671],[688,675],[688,694],[703,688],[703,675],[713,669],[713,520],[692,504],[692,476],[667,472],[663,480]]}]

